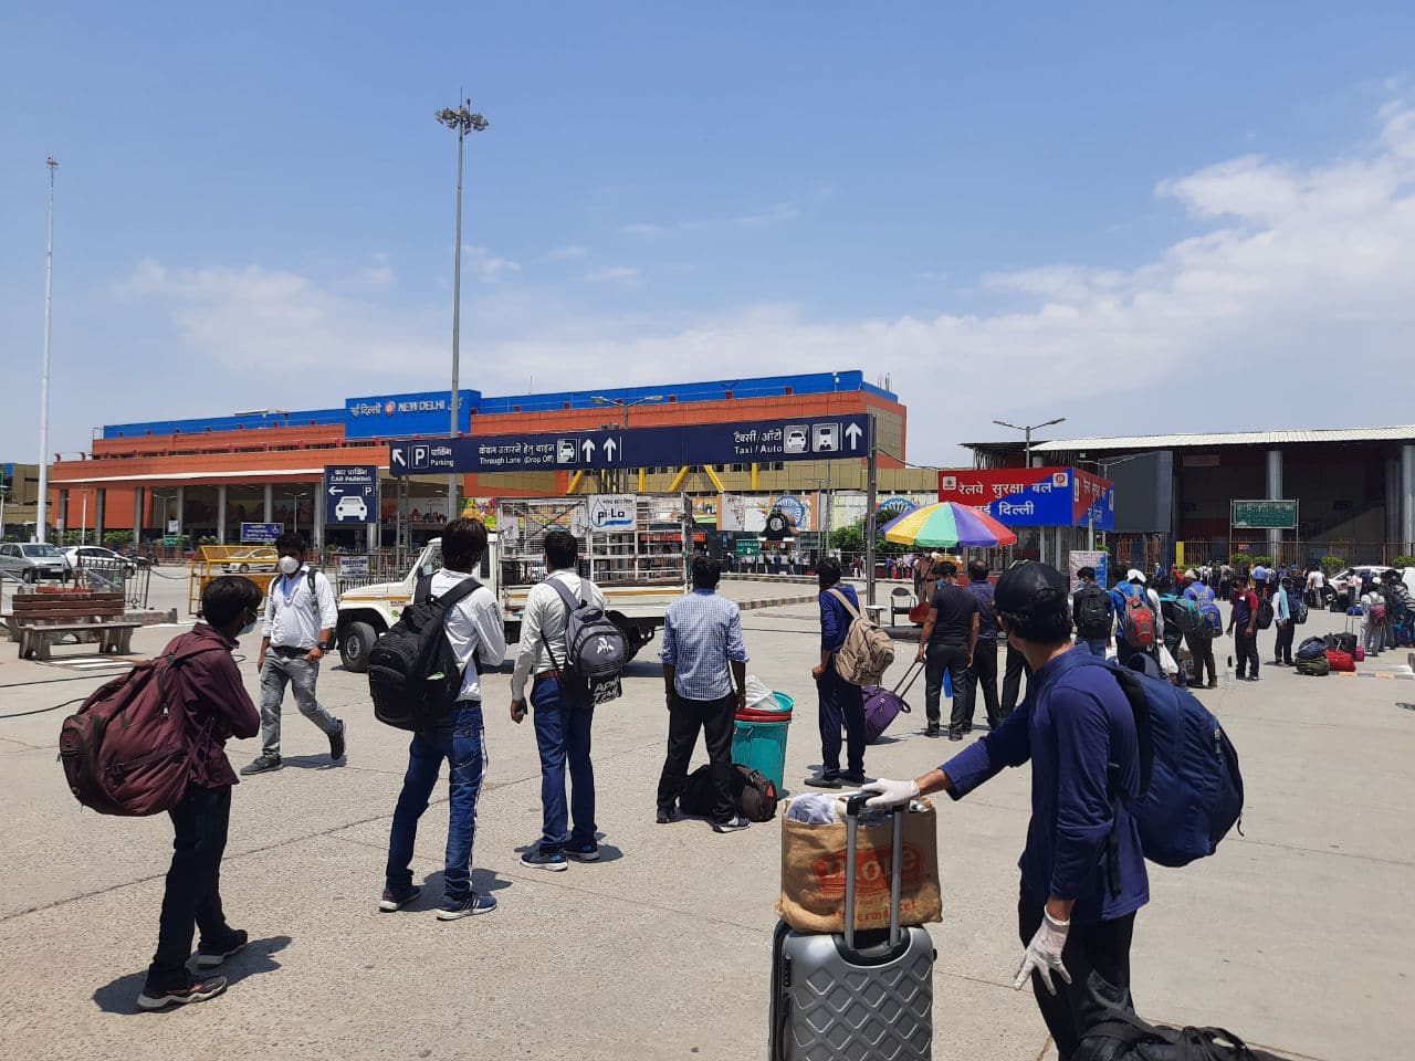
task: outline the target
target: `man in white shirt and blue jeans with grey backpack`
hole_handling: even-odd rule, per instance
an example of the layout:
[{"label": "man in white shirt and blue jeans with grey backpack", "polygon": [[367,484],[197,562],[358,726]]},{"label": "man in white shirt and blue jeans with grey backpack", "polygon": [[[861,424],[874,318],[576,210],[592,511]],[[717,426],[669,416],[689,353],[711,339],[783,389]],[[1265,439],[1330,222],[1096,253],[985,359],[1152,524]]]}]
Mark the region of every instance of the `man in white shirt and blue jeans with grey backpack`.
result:
[{"label": "man in white shirt and blue jeans with grey backpack", "polygon": [[[590,763],[590,723],[594,705],[562,696],[560,668],[566,665],[565,625],[570,618],[560,593],[550,586],[559,581],[572,597],[604,607],[604,594],[589,579],[574,573],[580,545],[567,530],[545,536],[542,583],[531,587],[521,614],[521,644],[511,675],[511,719],[526,717],[526,679],[531,679],[531,705],[535,707],[535,740],[541,750],[541,840],[521,864],[560,871],[576,862],[596,862],[600,845],[594,839],[594,767]],[[565,801],[566,763],[570,771],[570,804]],[[566,833],[570,825],[574,828]]]}]

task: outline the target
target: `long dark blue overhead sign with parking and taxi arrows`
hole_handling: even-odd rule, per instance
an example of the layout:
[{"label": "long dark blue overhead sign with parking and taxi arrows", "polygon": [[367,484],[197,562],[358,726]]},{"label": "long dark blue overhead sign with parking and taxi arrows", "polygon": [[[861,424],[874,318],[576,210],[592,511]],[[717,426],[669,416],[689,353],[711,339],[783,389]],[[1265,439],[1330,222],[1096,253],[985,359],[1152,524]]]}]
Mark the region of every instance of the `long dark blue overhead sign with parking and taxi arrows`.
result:
[{"label": "long dark blue overhead sign with parking and taxi arrows", "polygon": [[685,464],[845,460],[870,453],[863,413],[798,420],[617,427],[553,434],[490,434],[396,441],[393,475],[468,471],[597,471]]}]

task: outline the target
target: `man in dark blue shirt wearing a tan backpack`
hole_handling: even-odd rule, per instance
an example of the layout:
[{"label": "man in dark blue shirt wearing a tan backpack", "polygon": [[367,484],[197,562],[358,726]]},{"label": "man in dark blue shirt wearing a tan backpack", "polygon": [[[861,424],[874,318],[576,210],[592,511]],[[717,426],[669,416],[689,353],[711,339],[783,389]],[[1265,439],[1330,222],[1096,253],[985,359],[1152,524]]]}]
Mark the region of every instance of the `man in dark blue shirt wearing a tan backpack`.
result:
[{"label": "man in dark blue shirt wearing a tan backpack", "polygon": [[[860,686],[841,678],[835,669],[835,654],[845,645],[852,615],[841,601],[859,611],[860,598],[855,587],[841,581],[841,562],[833,556],[816,567],[821,586],[821,662],[811,668],[816,693],[821,697],[821,772],[807,778],[815,788],[839,788],[842,782],[865,784],[865,693]],[[841,729],[845,729],[846,767],[841,771]]]}]

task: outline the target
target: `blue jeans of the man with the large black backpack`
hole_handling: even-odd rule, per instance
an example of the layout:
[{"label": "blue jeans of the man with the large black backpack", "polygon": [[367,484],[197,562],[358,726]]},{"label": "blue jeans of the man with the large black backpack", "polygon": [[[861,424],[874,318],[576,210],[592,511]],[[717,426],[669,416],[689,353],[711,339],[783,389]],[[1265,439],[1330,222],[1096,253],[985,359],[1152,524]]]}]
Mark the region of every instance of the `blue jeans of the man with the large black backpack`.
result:
[{"label": "blue jeans of the man with the large black backpack", "polygon": [[471,891],[471,842],[477,836],[477,796],[487,768],[487,744],[483,736],[481,705],[464,702],[436,730],[415,733],[408,747],[408,774],[393,811],[393,829],[388,839],[388,887],[406,888],[413,883],[409,869],[417,819],[427,809],[427,799],[437,784],[443,760],[449,763],[447,789],[447,866],[443,891],[458,903]]}]

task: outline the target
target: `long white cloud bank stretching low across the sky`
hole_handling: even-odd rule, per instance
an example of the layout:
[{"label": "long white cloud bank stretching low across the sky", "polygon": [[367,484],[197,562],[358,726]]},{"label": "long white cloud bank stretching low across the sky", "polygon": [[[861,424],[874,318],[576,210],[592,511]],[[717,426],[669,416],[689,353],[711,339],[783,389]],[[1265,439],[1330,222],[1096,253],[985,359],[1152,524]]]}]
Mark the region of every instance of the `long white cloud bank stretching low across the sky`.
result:
[{"label": "long white cloud bank stretching low across the sky", "polygon": [[[822,318],[767,294],[696,314],[647,298],[607,314],[504,283],[471,300],[474,385],[519,393],[529,375],[577,388],[889,372],[910,407],[908,456],[924,463],[1002,437],[993,417],[1067,416],[1067,429],[1098,433],[1405,423],[1408,388],[1368,388],[1360,407],[1343,396],[1361,372],[1399,383],[1415,334],[1415,110],[1385,108],[1377,126],[1329,164],[1244,156],[1163,180],[1156,198],[1184,212],[1187,238],[1138,267],[985,272],[982,287],[1015,303],[992,313],[860,318],[842,307]],[[490,266],[501,279],[516,272],[478,260],[502,262]],[[642,280],[631,266],[590,277]],[[149,262],[125,290],[166,306],[198,362],[422,371],[412,389],[436,385],[446,359],[441,307],[415,313],[289,272]]]}]

